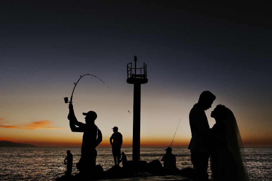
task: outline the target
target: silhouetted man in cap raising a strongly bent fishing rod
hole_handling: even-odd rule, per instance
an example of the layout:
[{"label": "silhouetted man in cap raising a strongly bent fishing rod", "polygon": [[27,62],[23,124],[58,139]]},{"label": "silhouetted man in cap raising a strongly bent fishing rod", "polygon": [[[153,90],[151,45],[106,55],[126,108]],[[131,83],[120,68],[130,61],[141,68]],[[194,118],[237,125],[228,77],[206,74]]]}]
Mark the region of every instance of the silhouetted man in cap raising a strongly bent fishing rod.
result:
[{"label": "silhouetted man in cap raising a strongly bent fishing rod", "polygon": [[94,123],[97,118],[94,111],[82,114],[86,116],[86,124],[77,121],[73,110],[73,104],[69,104],[68,119],[70,120],[70,129],[72,132],[83,132],[81,157],[76,164],[76,168],[83,171],[83,173],[89,173],[89,171],[96,166],[96,147],[102,141],[102,133]]}]

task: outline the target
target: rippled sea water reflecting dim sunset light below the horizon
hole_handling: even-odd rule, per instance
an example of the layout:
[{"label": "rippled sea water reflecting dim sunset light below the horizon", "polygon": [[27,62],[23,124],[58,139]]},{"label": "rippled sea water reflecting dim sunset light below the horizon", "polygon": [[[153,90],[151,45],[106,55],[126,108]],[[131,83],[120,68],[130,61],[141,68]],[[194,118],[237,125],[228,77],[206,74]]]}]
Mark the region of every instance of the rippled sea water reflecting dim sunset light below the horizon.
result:
[{"label": "rippled sea water reflecting dim sunset light below the horizon", "polygon": [[[80,148],[1,148],[0,147],[0,180],[54,180],[66,170],[63,160],[66,150],[73,154],[73,169],[80,158]],[[165,148],[141,148],[141,160],[147,162],[161,159]],[[132,159],[132,148],[122,148]],[[111,148],[97,148],[96,163],[103,168],[112,165]],[[245,148],[248,160],[248,174],[251,181],[272,180],[272,148]],[[177,167],[182,169],[193,167],[190,152],[186,148],[173,148]],[[59,167],[59,168],[58,168]],[[77,173],[74,170],[73,173]],[[209,174],[210,170],[209,170]]]}]

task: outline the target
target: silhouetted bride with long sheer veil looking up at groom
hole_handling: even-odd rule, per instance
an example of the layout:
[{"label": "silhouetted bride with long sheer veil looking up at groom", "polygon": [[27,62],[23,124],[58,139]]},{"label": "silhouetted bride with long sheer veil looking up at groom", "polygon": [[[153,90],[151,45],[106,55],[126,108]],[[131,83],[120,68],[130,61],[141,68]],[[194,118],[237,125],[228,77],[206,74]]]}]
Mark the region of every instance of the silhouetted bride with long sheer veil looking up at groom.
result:
[{"label": "silhouetted bride with long sheer veil looking up at groom", "polygon": [[211,171],[213,181],[248,181],[244,147],[234,114],[223,105],[211,113]]}]

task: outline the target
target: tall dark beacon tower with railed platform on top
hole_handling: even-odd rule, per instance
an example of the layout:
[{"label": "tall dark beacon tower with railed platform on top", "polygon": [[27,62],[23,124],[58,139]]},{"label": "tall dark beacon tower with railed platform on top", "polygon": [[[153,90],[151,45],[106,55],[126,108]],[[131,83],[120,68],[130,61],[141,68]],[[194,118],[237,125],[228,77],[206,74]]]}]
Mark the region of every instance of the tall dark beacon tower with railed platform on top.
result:
[{"label": "tall dark beacon tower with railed platform on top", "polygon": [[140,162],[140,130],[141,130],[141,84],[146,84],[147,73],[146,64],[144,67],[136,68],[137,57],[134,56],[134,68],[132,62],[127,65],[127,83],[134,84],[133,93],[133,142],[132,142],[132,161],[134,164]]}]

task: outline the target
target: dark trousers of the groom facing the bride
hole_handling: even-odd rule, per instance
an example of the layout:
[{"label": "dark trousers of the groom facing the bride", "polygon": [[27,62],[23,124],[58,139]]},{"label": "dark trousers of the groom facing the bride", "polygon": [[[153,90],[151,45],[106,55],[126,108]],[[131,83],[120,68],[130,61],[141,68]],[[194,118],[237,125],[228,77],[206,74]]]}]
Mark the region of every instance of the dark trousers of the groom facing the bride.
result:
[{"label": "dark trousers of the groom facing the bride", "polygon": [[191,152],[191,161],[194,167],[194,180],[195,181],[206,181],[209,178],[208,164],[209,164],[209,153],[204,152]]}]

